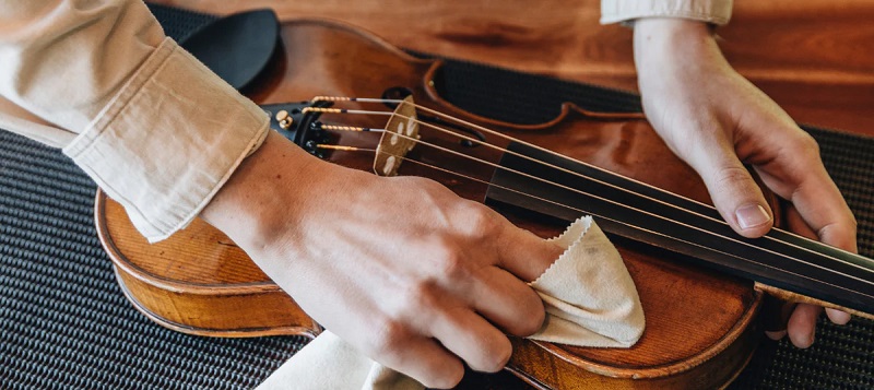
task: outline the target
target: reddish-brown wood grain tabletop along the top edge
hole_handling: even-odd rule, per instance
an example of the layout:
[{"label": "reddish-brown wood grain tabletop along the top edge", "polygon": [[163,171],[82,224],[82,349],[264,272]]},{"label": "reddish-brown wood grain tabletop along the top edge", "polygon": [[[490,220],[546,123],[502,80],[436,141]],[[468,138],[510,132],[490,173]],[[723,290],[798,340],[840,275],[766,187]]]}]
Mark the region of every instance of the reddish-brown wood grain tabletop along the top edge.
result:
[{"label": "reddish-brown wood grain tabletop along the top edge", "polygon": [[[636,90],[631,32],[600,25],[599,0],[153,0],[213,14],[272,8],[330,17],[390,43],[515,70]],[[721,47],[795,120],[874,135],[874,2],[735,0]]]}]

